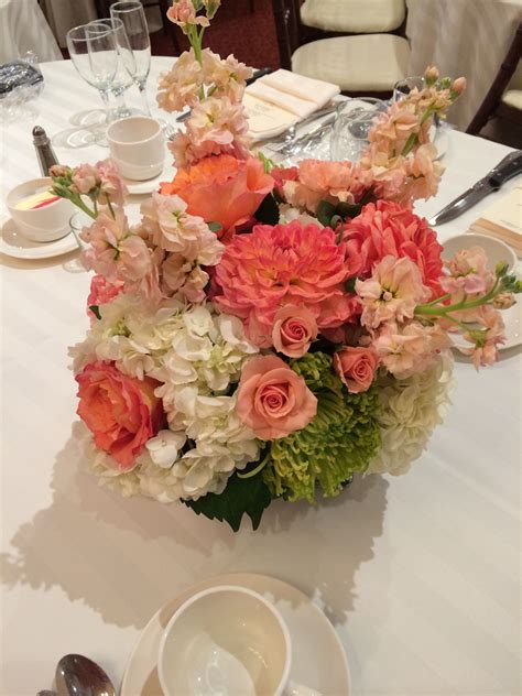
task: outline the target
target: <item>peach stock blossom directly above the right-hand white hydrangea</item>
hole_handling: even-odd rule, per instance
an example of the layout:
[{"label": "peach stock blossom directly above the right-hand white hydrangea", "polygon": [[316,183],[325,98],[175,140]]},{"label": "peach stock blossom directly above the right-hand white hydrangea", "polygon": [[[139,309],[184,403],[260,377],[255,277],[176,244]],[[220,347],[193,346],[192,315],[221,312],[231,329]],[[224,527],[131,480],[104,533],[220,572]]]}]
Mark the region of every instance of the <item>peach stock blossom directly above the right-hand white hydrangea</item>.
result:
[{"label": "peach stock blossom directly above the right-hand white hydrangea", "polygon": [[387,322],[372,339],[381,363],[398,379],[423,372],[448,346],[449,338],[438,325],[425,326],[416,320],[402,326]]}]

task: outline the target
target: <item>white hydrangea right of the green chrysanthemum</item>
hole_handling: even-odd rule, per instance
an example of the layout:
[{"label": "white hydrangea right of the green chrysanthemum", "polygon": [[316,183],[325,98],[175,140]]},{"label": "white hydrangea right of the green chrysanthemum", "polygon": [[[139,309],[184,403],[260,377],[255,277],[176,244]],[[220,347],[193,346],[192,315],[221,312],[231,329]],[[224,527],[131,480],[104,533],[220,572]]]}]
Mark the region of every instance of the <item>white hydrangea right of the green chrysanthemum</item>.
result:
[{"label": "white hydrangea right of the green chrysanthemum", "polygon": [[405,474],[424,449],[450,404],[453,357],[441,354],[428,369],[407,379],[384,378],[379,396],[382,447],[369,474]]}]

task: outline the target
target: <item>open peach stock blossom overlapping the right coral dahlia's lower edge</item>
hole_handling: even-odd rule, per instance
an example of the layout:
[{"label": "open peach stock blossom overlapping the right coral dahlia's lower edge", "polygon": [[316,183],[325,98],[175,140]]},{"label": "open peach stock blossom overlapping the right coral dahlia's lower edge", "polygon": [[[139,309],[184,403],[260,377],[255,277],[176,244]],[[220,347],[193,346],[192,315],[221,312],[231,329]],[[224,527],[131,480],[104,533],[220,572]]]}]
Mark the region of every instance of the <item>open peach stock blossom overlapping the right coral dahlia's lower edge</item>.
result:
[{"label": "open peach stock blossom overlapping the right coral dahlia's lower edge", "polygon": [[362,305],[361,324],[377,328],[383,322],[412,318],[417,304],[429,298],[416,264],[403,257],[388,255],[373,269],[367,281],[356,281],[356,292]]}]

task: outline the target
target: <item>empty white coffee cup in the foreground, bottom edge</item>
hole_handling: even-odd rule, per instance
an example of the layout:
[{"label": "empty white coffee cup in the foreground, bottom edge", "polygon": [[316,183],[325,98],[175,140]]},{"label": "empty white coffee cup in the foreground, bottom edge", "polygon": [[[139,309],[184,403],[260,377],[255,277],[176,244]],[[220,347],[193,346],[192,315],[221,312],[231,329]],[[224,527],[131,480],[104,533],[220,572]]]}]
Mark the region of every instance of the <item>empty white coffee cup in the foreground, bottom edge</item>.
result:
[{"label": "empty white coffee cup in the foreground, bottom edge", "polygon": [[290,679],[292,643],[281,613],[246,587],[193,595],[168,621],[157,672],[165,696],[319,696]]}]

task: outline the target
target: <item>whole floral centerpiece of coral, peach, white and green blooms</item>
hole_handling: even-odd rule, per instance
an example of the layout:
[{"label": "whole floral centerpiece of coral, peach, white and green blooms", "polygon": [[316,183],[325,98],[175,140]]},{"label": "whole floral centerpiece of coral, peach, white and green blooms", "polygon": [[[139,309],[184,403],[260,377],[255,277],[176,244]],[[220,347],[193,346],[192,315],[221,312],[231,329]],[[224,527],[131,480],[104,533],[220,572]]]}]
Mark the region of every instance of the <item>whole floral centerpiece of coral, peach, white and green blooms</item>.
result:
[{"label": "whole floral centerpiece of coral, peach, white and green blooms", "polygon": [[479,248],[443,263],[412,208],[437,191],[428,131],[463,78],[429,68],[359,162],[281,168],[249,149],[250,68],[203,48],[218,4],[168,10],[192,47],[159,104],[192,111],[170,142],[176,175],[141,220],[110,161],[52,175],[93,218],[90,328],[70,351],[93,472],[237,530],[276,498],[313,503],[356,471],[405,472],[443,420],[454,334],[492,363],[521,283]]}]

